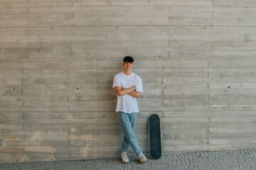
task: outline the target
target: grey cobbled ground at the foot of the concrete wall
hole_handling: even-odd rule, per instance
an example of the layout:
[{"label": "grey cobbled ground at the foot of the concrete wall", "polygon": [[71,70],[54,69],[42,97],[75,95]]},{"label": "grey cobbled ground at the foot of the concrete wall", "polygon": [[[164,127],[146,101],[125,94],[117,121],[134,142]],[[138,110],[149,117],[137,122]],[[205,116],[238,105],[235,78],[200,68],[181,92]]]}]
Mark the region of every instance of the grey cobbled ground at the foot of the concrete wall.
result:
[{"label": "grey cobbled ground at the foot of the concrete wall", "polygon": [[1,170],[38,170],[38,169],[256,169],[256,149],[240,149],[222,152],[193,152],[188,154],[164,154],[161,159],[150,159],[140,164],[137,157],[129,157],[128,164],[122,164],[120,158],[92,159],[58,162],[26,162],[0,164]]}]

